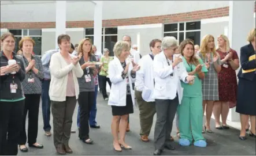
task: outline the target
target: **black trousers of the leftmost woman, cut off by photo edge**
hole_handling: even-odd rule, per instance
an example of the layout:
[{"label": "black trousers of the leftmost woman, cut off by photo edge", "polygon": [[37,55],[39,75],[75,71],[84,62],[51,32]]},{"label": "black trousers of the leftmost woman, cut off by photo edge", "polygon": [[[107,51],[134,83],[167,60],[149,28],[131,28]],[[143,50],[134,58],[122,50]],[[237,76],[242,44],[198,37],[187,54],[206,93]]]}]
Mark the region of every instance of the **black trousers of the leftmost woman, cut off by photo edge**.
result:
[{"label": "black trousers of the leftmost woman, cut off by photo edge", "polygon": [[0,101],[0,155],[17,155],[24,100]]}]

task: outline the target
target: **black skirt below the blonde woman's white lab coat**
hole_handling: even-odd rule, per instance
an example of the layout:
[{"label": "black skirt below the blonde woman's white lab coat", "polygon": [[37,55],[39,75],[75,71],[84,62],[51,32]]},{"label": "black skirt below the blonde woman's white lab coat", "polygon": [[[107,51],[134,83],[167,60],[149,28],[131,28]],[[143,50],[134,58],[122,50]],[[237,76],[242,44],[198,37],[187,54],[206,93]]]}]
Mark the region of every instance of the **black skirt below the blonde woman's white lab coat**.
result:
[{"label": "black skirt below the blonde woman's white lab coat", "polygon": [[112,115],[113,116],[122,116],[133,113],[133,104],[132,104],[132,96],[126,96],[126,105],[125,106],[114,106],[112,105]]}]

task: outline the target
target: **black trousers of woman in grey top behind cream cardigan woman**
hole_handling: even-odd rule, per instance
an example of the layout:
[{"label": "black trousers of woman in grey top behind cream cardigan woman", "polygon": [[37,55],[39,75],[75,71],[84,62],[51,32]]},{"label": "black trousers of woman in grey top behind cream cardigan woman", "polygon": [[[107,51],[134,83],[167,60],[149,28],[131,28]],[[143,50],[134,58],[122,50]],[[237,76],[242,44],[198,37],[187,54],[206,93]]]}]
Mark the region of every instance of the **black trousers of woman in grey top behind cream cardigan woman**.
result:
[{"label": "black trousers of woman in grey top behind cream cardigan woman", "polygon": [[89,139],[89,117],[90,110],[94,104],[95,92],[80,92],[78,97],[78,104],[80,106],[80,127],[79,138],[83,140]]}]

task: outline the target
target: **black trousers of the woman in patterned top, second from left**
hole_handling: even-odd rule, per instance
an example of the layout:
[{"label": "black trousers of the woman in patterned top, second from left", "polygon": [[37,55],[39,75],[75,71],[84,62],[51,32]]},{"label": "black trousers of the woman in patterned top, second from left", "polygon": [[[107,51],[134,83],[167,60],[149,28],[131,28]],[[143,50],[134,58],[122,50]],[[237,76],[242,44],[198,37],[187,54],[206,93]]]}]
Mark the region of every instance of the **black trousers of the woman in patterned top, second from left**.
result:
[{"label": "black trousers of the woman in patterned top, second from left", "polygon": [[26,144],[26,119],[28,113],[28,144],[36,143],[38,137],[38,113],[41,94],[25,94],[25,106],[23,113],[23,125],[20,131],[20,145]]}]

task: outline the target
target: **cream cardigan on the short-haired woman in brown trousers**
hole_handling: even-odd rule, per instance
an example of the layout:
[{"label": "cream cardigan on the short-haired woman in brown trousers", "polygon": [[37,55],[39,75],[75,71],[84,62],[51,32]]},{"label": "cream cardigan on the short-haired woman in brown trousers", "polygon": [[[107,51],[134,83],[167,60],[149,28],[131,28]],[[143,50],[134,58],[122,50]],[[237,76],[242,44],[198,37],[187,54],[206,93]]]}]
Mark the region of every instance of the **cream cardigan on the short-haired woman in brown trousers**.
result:
[{"label": "cream cardigan on the short-haired woman in brown trousers", "polygon": [[[71,54],[70,54],[71,55]],[[76,99],[79,95],[79,85],[77,78],[83,76],[84,71],[81,69],[79,62],[74,65],[68,64],[60,52],[51,56],[50,61],[50,74],[51,82],[49,88],[49,96],[52,101],[65,101],[66,100],[66,86],[68,83],[68,73],[72,70],[73,80],[75,83]]]}]

